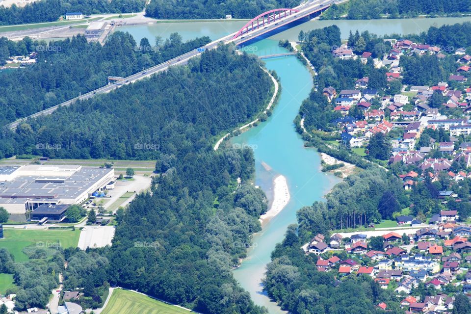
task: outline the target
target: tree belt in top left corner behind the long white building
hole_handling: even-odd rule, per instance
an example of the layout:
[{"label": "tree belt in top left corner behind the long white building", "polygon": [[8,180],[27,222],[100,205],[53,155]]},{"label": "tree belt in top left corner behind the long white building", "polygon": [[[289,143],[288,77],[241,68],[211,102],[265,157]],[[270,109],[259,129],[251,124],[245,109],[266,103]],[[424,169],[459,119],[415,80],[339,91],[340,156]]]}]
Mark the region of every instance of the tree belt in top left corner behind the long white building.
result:
[{"label": "tree belt in top left corner behind the long white building", "polygon": [[0,25],[16,25],[57,21],[67,12],[131,13],[144,9],[145,0],[41,0],[18,7],[0,6]]}]

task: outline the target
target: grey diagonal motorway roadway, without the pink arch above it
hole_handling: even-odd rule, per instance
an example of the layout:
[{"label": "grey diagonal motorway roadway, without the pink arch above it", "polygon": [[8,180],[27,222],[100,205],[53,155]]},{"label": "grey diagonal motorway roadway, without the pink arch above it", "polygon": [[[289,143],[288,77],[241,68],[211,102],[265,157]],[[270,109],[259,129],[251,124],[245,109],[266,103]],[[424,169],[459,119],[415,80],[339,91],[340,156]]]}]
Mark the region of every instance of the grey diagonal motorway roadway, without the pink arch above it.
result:
[{"label": "grey diagonal motorway roadway, without the pink arch above it", "polygon": [[[344,2],[344,1],[345,0],[335,1],[335,3],[340,3],[340,2]],[[309,0],[309,1],[306,1],[303,4],[293,8],[293,9],[299,10],[299,12],[294,13],[292,15],[288,15],[288,16],[284,17],[282,20],[277,20],[276,23],[271,22],[270,24],[267,24],[263,28],[258,28],[258,29],[255,29],[255,30],[251,30],[249,33],[246,33],[243,36],[239,36],[235,39],[233,39],[233,37],[236,33],[229,34],[229,35],[227,35],[223,38],[220,38],[220,39],[217,39],[213,42],[210,42],[209,44],[201,47],[199,50],[193,50],[191,52],[186,52],[186,53],[184,53],[184,54],[182,54],[178,57],[175,57],[173,59],[170,59],[170,60],[168,60],[164,63],[157,64],[156,66],[153,66],[153,67],[151,67],[149,69],[146,69],[142,72],[138,72],[138,73],[133,74],[133,75],[127,77],[127,78],[123,78],[123,80],[116,81],[115,83],[105,85],[105,86],[100,87],[100,88],[98,88],[94,91],[88,92],[86,94],[83,94],[83,95],[80,95],[76,98],[73,98],[69,101],[66,101],[62,104],[54,105],[54,106],[52,106],[48,109],[36,112],[36,113],[26,117],[26,118],[16,120],[15,122],[12,122],[12,123],[8,124],[7,127],[10,128],[11,130],[14,130],[18,127],[18,125],[21,122],[25,121],[26,119],[36,118],[38,116],[43,116],[43,115],[49,115],[61,106],[69,106],[69,105],[74,104],[78,100],[87,100],[89,98],[94,97],[95,95],[108,93],[111,90],[114,90],[114,89],[116,89],[120,86],[129,84],[131,82],[134,82],[134,81],[142,79],[142,78],[150,77],[151,75],[153,75],[155,73],[158,73],[158,72],[166,71],[170,66],[173,66],[173,65],[187,64],[188,60],[190,58],[192,58],[194,56],[197,56],[197,55],[200,55],[204,50],[210,50],[210,49],[216,48],[219,43],[223,43],[223,44],[234,43],[235,45],[241,45],[241,44],[243,44],[247,41],[253,40],[253,39],[255,39],[259,36],[262,36],[262,35],[270,32],[270,31],[273,31],[273,30],[275,30],[279,27],[288,25],[289,23],[292,23],[294,21],[303,19],[303,18],[305,18],[305,17],[307,17],[311,14],[314,14],[318,11],[324,10],[324,9],[328,8],[330,5],[332,5],[332,3],[334,3],[334,1],[332,1],[332,0]]]}]

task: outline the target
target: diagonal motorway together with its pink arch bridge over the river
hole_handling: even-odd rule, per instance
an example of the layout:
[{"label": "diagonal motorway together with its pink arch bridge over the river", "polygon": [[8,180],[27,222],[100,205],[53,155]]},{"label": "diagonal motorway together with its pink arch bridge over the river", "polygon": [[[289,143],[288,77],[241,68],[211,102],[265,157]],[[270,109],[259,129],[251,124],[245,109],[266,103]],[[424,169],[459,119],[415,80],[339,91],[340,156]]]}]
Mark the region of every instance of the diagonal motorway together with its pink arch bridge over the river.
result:
[{"label": "diagonal motorway together with its pink arch bridge over the river", "polygon": [[114,81],[113,84],[108,84],[103,87],[100,87],[94,91],[88,92],[86,94],[80,95],[76,98],[73,98],[69,101],[66,101],[62,104],[52,106],[48,109],[36,112],[26,118],[22,118],[16,120],[7,125],[8,128],[14,130],[22,123],[23,121],[36,118],[42,115],[48,115],[57,110],[60,106],[69,106],[74,104],[79,100],[87,100],[91,97],[94,97],[98,94],[108,93],[113,89],[116,89],[122,85],[129,84],[133,81],[150,77],[155,73],[159,73],[168,69],[168,67],[172,65],[184,65],[188,63],[188,60],[196,55],[200,55],[205,50],[214,49],[219,44],[227,44],[227,43],[234,43],[235,45],[239,46],[248,41],[254,41],[263,35],[266,35],[270,32],[279,30],[279,28],[283,26],[288,26],[289,24],[299,21],[302,19],[309,18],[311,16],[320,15],[323,11],[327,10],[333,3],[340,3],[345,2],[347,0],[340,0],[340,1],[333,1],[333,0],[307,0],[306,2],[291,8],[291,9],[276,9],[264,12],[251,21],[249,21],[245,26],[243,26],[240,30],[235,33],[229,34],[223,38],[217,39],[209,44],[198,48],[197,50],[193,50],[190,52],[186,52],[178,57],[170,59],[164,63],[157,64],[147,70],[135,73],[127,78],[123,78],[122,80]]}]

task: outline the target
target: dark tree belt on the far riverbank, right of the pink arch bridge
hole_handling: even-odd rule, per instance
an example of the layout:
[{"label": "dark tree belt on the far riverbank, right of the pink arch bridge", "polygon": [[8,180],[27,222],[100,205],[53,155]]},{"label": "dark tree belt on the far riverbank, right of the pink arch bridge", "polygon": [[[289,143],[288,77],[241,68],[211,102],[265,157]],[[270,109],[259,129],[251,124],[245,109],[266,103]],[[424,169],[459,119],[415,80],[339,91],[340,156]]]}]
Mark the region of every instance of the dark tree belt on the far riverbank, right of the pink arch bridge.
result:
[{"label": "dark tree belt on the far riverbank, right of the pink arch bridge", "polygon": [[469,0],[350,0],[332,5],[321,17],[323,20],[370,20],[419,15],[458,15],[471,12]]}]

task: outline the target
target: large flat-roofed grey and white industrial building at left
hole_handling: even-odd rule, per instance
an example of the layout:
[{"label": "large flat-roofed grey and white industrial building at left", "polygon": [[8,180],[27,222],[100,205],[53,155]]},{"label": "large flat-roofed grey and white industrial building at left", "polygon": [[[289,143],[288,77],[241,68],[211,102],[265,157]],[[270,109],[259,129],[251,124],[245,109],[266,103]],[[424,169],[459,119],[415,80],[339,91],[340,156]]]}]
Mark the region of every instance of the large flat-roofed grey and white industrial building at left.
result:
[{"label": "large flat-roofed grey and white industrial building at left", "polygon": [[0,206],[12,214],[80,204],[114,180],[114,169],[77,165],[0,166]]}]

